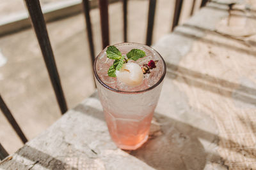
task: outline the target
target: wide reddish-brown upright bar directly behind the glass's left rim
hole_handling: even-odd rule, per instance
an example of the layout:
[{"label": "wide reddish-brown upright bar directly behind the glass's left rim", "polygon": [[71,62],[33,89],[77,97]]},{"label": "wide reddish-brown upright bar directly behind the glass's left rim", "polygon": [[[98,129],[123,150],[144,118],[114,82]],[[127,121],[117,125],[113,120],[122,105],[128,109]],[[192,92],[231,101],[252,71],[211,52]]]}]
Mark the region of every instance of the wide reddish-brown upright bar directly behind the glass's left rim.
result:
[{"label": "wide reddish-brown upright bar directly behind the glass's left rim", "polygon": [[109,45],[108,0],[99,0],[102,49]]}]

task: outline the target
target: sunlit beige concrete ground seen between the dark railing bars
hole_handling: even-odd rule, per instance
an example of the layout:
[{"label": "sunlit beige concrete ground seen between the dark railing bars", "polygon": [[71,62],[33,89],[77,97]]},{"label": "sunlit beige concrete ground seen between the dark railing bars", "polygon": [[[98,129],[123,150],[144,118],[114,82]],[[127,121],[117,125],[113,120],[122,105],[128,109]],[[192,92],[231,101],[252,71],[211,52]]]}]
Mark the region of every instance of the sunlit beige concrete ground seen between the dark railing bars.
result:
[{"label": "sunlit beige concrete ground seen between the dark railing bars", "polygon": [[[170,32],[174,2],[157,1],[154,42]],[[183,11],[186,12],[182,13],[181,22],[188,18],[191,3],[190,0],[184,1]],[[196,8],[199,4],[200,0]],[[148,1],[129,1],[128,12],[128,41],[145,43]],[[93,9],[91,16],[95,53],[99,53],[102,50],[99,10]],[[122,3],[109,5],[109,25],[111,44],[122,42]],[[84,27],[82,14],[47,24],[68,108],[73,108],[95,90]],[[34,138],[61,117],[32,29],[0,38],[0,94],[28,139]],[[0,143],[9,153],[22,146],[2,113],[0,129]]]}]

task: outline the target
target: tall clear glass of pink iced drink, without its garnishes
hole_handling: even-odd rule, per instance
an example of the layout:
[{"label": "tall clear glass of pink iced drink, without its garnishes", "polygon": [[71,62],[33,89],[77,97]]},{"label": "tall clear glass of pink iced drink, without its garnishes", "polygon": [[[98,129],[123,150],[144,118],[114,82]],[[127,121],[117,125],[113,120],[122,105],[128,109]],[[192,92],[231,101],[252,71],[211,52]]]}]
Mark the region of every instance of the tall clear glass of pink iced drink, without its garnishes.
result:
[{"label": "tall clear glass of pink iced drink, without its garnishes", "polygon": [[133,48],[143,50],[147,56],[136,61],[140,66],[149,60],[158,60],[157,67],[151,69],[150,74],[144,74],[143,83],[138,87],[129,87],[117,78],[108,76],[113,60],[106,57],[106,48],[94,63],[97,90],[109,134],[119,148],[136,150],[147,141],[166,66],[161,55],[149,46],[138,43],[120,43],[115,46],[122,55]]}]

